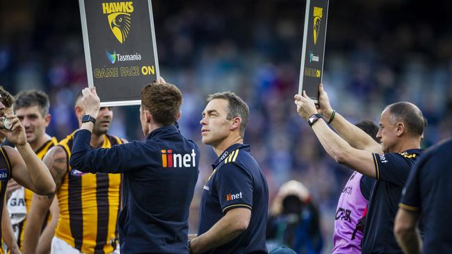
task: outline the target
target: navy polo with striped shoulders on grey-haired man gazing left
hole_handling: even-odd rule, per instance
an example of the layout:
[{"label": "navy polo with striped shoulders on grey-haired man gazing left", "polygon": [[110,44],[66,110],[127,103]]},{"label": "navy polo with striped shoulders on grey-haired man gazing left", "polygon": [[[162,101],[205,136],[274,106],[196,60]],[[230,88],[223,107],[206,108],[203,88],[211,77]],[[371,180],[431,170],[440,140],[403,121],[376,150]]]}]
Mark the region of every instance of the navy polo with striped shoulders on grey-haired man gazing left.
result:
[{"label": "navy polo with striped shoulders on grey-haired man gazing left", "polygon": [[212,164],[213,172],[204,185],[197,235],[207,232],[228,210],[251,210],[250,223],[231,242],[207,253],[267,253],[265,245],[268,186],[250,146],[233,144]]}]

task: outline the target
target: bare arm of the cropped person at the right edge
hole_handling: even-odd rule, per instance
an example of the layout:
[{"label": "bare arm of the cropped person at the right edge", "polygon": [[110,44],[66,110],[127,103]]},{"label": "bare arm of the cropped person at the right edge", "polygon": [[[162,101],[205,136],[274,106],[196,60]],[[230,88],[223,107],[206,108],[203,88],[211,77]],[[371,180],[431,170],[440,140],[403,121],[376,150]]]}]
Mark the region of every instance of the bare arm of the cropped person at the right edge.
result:
[{"label": "bare arm of the cropped person at the right edge", "polygon": [[419,212],[399,208],[394,223],[394,235],[403,253],[421,253],[422,239],[416,230]]}]

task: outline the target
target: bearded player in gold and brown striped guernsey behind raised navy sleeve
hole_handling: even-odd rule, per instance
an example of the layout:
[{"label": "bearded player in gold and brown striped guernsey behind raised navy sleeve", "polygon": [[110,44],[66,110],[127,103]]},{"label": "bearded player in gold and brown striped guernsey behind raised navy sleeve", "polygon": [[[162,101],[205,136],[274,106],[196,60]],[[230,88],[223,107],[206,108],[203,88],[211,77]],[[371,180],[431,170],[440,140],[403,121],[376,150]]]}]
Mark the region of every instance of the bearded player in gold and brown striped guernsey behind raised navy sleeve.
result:
[{"label": "bearded player in gold and brown striped guernsey behind raised navy sleeve", "polygon": [[[86,114],[79,92],[75,99],[74,112],[79,124]],[[104,107],[98,112],[93,135],[88,140],[92,147],[111,148],[125,140],[109,135],[113,119],[111,108]],[[47,224],[40,236],[47,211],[53,203],[54,195],[33,194],[28,223],[24,233],[24,253],[35,253],[40,248],[51,253],[114,253],[118,249],[117,220],[120,210],[121,176],[106,173],[86,174],[78,167],[70,167],[71,148],[74,133],[67,135],[57,146],[51,148],[44,157],[57,185],[56,197],[60,208],[60,219],[56,229]],[[51,231],[55,234],[51,235]],[[48,232],[47,234],[45,232]],[[52,237],[49,241],[48,237]],[[48,244],[51,244],[49,246]]]}]

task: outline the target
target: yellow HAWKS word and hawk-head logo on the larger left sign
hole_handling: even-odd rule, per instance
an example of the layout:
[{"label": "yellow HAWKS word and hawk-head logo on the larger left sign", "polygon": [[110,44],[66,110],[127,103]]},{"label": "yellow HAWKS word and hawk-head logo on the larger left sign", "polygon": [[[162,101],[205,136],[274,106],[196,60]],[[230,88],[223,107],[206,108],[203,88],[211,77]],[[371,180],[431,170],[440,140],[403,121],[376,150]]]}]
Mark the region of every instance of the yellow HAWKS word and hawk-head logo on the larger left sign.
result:
[{"label": "yellow HAWKS word and hawk-head logo on the larger left sign", "polygon": [[102,3],[102,10],[107,14],[111,32],[122,44],[131,28],[131,13],[134,12],[132,2]]}]

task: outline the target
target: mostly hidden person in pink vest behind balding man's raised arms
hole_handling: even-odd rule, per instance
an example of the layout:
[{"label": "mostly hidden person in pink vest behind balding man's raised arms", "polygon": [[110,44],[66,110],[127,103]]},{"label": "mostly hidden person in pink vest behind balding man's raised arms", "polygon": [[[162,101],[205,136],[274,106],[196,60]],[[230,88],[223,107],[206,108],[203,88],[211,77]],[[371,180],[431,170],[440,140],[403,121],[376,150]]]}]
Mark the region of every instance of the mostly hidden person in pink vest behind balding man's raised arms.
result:
[{"label": "mostly hidden person in pink vest behind balding man's raised arms", "polygon": [[[378,126],[373,121],[360,121],[355,125],[379,142],[376,137]],[[374,178],[363,176],[357,171],[354,171],[348,179],[334,215],[332,253],[361,253],[364,219],[374,183]]]}]

